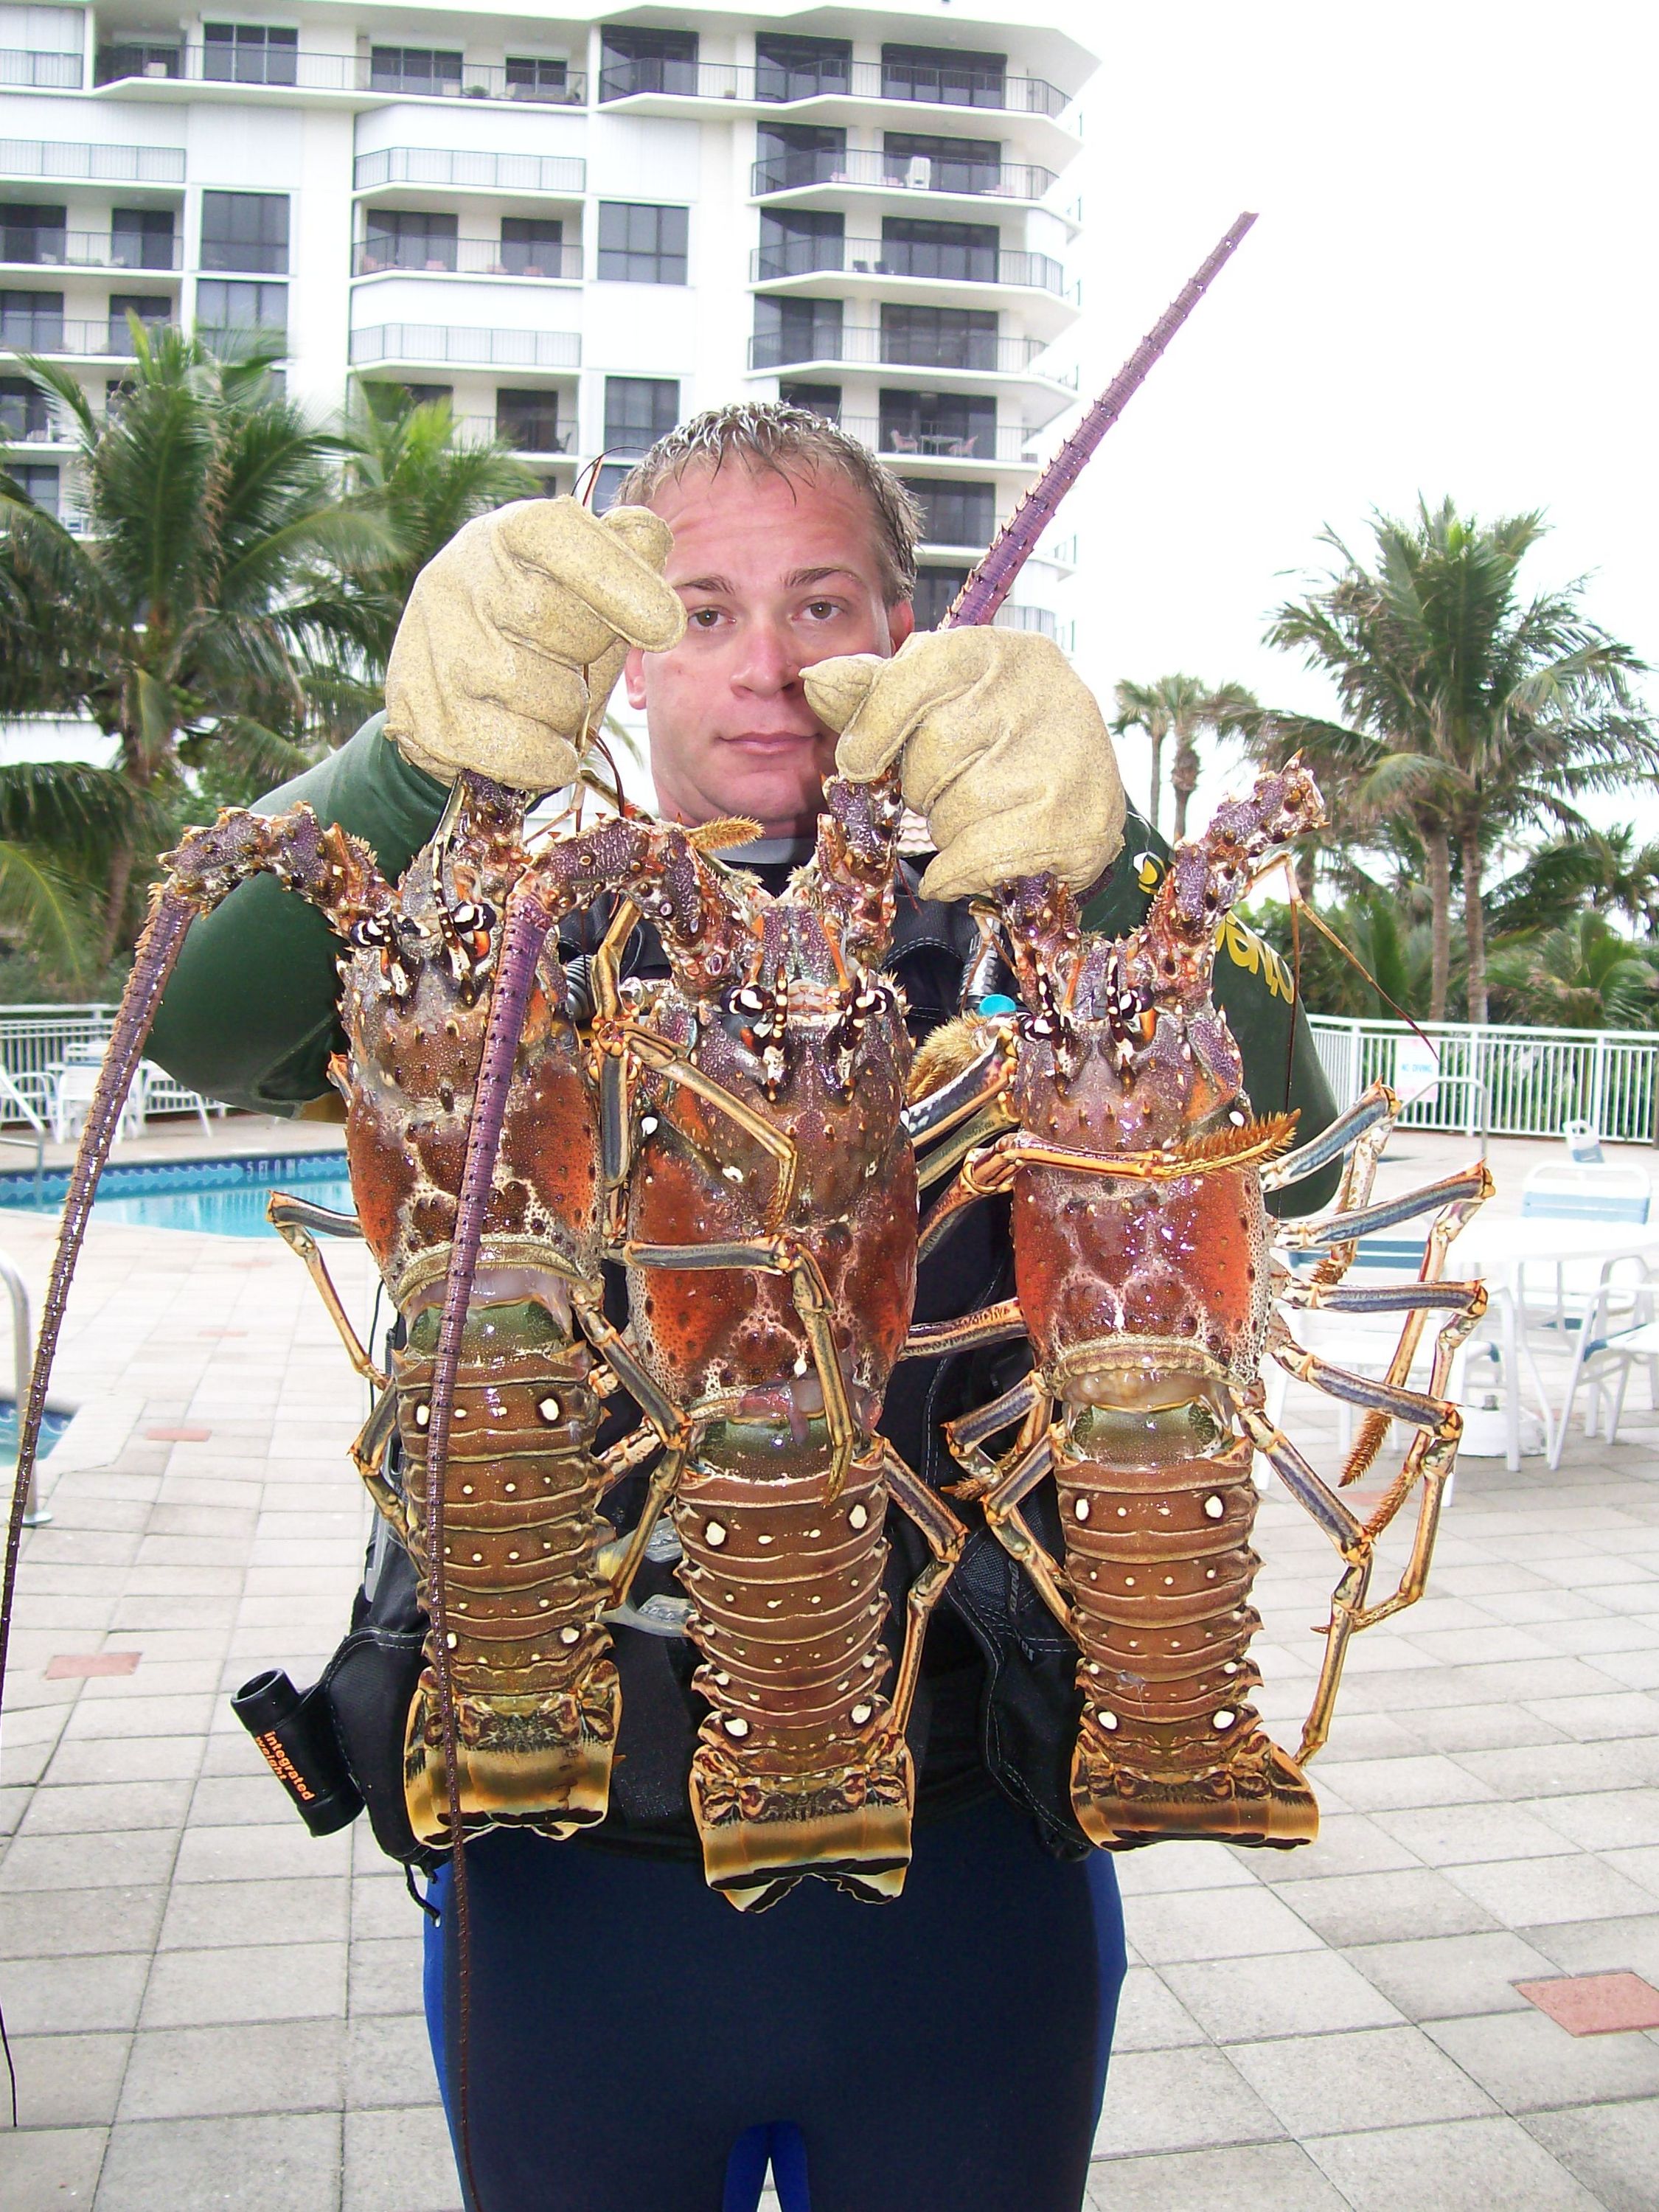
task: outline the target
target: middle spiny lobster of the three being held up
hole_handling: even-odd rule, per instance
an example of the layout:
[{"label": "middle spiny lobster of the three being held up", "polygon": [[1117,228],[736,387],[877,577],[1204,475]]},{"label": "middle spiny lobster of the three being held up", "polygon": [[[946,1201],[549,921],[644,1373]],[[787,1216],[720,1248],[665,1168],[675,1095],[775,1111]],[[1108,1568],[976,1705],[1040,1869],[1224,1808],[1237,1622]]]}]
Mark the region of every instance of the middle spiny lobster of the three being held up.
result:
[{"label": "middle spiny lobster of the three being held up", "polygon": [[[803,1874],[896,1896],[914,1801],[905,1723],[927,1615],[964,1531],[874,1429],[909,1327],[916,1177],[902,1128],[909,1035],[878,960],[894,916],[896,781],[825,790],[818,849],[772,898],[679,830],[619,821],[582,843],[622,896],[593,962],[608,1248],[668,1449],[628,1562],[664,1506],[710,1701],[692,1807],[710,1885],[768,1905]],[[513,894],[462,1179],[445,1340],[460,1340],[469,1223],[489,1188],[526,978],[568,847]],[[648,911],[657,987],[617,984]],[[431,1453],[445,1436],[440,1352]],[[933,1559],[909,1595],[891,1692],[883,1520],[896,1498]]]}]

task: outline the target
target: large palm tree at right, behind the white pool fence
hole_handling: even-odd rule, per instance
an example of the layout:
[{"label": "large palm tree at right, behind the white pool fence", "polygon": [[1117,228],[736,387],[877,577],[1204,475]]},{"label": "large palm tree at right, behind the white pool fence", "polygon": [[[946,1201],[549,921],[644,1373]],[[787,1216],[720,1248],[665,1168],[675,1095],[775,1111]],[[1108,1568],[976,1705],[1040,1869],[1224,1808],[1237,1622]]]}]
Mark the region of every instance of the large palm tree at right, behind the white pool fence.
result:
[{"label": "large palm tree at right, behind the white pool fence", "polygon": [[1469,1018],[1486,1020],[1484,872],[1498,847],[1551,823],[1588,834],[1573,805],[1659,765],[1632,695],[1635,653],[1579,613],[1582,582],[1520,599],[1537,513],[1482,526],[1451,500],[1413,524],[1376,518],[1376,568],[1340,538],[1323,591],[1279,608],[1267,641],[1334,679],[1347,721],[1272,714],[1259,743],[1301,748],[1354,832],[1409,823],[1433,916],[1431,1020],[1451,975],[1451,867],[1462,874]]}]

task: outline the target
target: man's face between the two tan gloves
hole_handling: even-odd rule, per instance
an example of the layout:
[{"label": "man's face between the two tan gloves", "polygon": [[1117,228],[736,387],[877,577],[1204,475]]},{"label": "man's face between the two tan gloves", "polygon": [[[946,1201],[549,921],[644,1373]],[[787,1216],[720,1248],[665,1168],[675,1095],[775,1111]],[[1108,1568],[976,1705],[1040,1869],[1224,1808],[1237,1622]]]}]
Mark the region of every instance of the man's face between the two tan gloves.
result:
[{"label": "man's face between the two tan gloves", "polygon": [[887,606],[876,522],[832,469],[785,478],[688,469],[653,498],[675,533],[668,582],[686,604],[672,653],[630,653],[659,810],[681,823],[750,814],[770,836],[810,830],[836,741],[801,670],[836,653],[894,653],[911,633]]}]

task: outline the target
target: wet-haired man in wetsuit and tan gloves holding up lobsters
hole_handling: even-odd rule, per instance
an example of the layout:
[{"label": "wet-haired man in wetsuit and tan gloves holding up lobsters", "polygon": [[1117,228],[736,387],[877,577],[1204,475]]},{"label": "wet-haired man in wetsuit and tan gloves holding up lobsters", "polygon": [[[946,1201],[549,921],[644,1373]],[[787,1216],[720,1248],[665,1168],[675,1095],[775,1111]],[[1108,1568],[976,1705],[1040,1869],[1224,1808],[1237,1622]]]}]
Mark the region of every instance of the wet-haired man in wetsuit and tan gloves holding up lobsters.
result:
[{"label": "wet-haired man in wetsuit and tan gloves holding up lobsters", "polygon": [[[834,728],[852,723],[863,774],[902,754],[938,856],[900,900],[887,964],[925,1033],[958,1011],[978,942],[967,911],[933,894],[989,880],[987,867],[1086,885],[1113,856],[1121,787],[1093,699],[1044,639],[949,633],[891,657],[914,628],[918,518],[814,416],[703,416],[653,449],[624,500],[633,513],[597,524],[546,504],[462,533],[416,586],[385,730],[358,732],[268,805],[312,799],[396,872],[458,768],[562,783],[630,639],[626,688],[646,712],[661,812],[754,816],[763,838],[737,858],[772,887],[805,856]],[[1093,925],[1133,927],[1155,858],[1133,823],[1130,865]],[[155,1055],[219,1095],[290,1110],[319,1097],[334,969],[314,922],[270,883],[237,891],[186,947]],[[653,960],[648,940],[635,958]],[[1265,1044],[1250,1060],[1256,1104],[1272,1106],[1290,1009],[1256,1000],[1239,1026]],[[1263,1013],[1283,1018],[1274,1037]],[[1301,1060],[1310,1077],[1305,1044]],[[1329,1117],[1318,1091],[1305,1104],[1310,1126]],[[1006,1214],[987,1206],[922,1270],[918,1314],[969,1312],[1006,1287]],[[883,1427],[925,1478],[949,1480],[940,1422],[1013,1371],[1006,1354],[900,1367]],[[891,1533],[889,1595],[918,1564],[907,1531]],[[929,1628],[916,1860],[891,1907],[803,1882],[741,1918],[708,1893],[684,1801],[690,1663],[684,1644],[619,1628],[613,1816],[566,1845],[495,1832],[467,1851],[480,2212],[739,2212],[754,2203],[743,2152],[768,2124],[792,2130],[812,2212],[1077,2212],[1124,1949],[1113,1860],[1082,1847],[1066,1798],[1071,1646],[1035,1593],[975,1528]],[[451,2090],[447,1920],[431,2011]],[[785,2197],[790,2212],[805,2203]]]}]

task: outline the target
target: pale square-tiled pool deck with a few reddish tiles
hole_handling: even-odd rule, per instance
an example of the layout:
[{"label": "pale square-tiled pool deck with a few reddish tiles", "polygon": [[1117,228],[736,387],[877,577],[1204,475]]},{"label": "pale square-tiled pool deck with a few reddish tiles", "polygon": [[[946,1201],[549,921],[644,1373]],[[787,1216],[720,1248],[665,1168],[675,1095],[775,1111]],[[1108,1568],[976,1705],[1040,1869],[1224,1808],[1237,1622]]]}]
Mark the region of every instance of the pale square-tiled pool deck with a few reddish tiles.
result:
[{"label": "pale square-tiled pool deck with a few reddish tiles", "polygon": [[[204,1146],[190,1124],[117,1157],[338,1146],[276,1128]],[[1546,1152],[1493,1146],[1504,1212]],[[1385,1177],[1467,1157],[1407,1137]],[[35,1298],[53,1234],[0,1214]],[[332,1259],[365,1321],[365,1254]],[[456,2212],[420,1916],[363,1823],[303,1832],[226,1705],[263,1666],[310,1681],[343,1632],[363,1387],[274,1239],[97,1219],[58,1383],[84,1411],[24,1540],[0,1767],[22,2110],[0,2203]],[[1323,1402],[1294,1391],[1287,1427],[1327,1464]],[[1568,2035],[1515,1984],[1659,1984],[1657,1447],[1637,1405],[1559,1475],[1464,1462],[1429,1597],[1349,1661],[1316,1845],[1119,1860],[1135,1964],[1093,2212],[1655,2212],[1659,2033]],[[1283,1493],[1256,1548],[1285,1736],[1332,1555]],[[53,1668],[111,1655],[133,1670]]]}]

